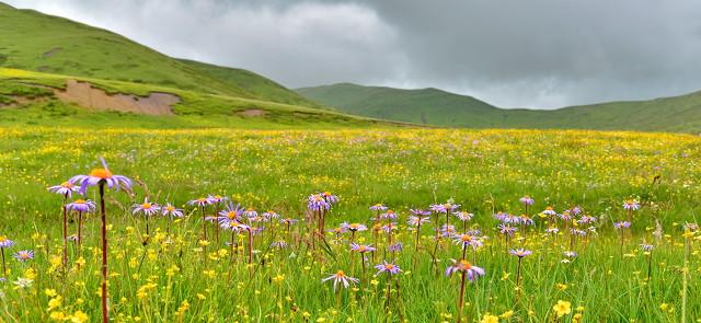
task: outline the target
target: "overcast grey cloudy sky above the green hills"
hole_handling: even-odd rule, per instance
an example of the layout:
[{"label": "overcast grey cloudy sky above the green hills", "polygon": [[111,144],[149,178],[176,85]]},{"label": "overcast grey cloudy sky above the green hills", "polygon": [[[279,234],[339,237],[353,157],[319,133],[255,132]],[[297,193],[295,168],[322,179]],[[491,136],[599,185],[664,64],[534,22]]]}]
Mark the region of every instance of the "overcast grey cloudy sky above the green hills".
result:
[{"label": "overcast grey cloudy sky above the green hills", "polygon": [[540,108],[701,90],[698,0],[8,2],[289,88],[434,86]]}]

